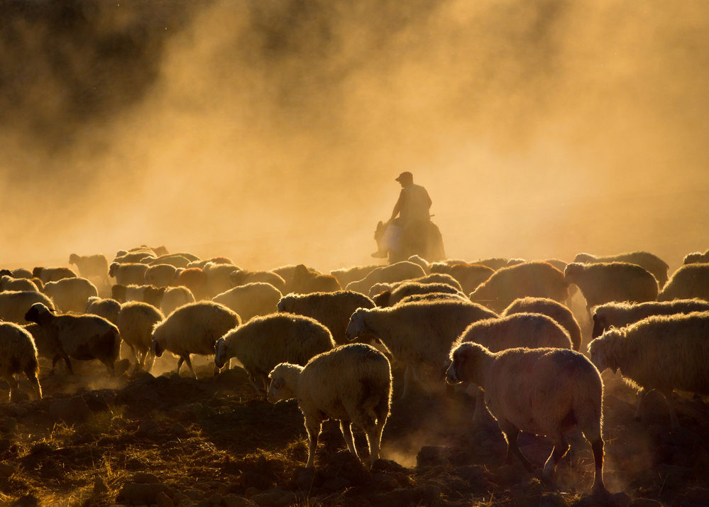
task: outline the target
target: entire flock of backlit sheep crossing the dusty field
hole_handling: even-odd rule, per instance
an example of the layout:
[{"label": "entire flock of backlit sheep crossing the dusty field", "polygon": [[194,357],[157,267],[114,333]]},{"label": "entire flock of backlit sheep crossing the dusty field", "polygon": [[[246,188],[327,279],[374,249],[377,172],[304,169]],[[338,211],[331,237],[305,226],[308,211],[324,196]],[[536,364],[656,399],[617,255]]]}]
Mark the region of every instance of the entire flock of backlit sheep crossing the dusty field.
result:
[{"label": "entire flock of backlit sheep crossing the dusty field", "polygon": [[[190,356],[214,358],[215,374],[236,359],[253,388],[273,403],[296,398],[314,466],[321,423],[340,421],[355,456],[351,425],[379,458],[390,414],[390,361],[405,365],[407,398],[462,384],[489,410],[515,455],[520,431],[554,443],[542,479],[551,481],[583,432],[603,483],[603,382],[620,370],[644,394],[656,389],[679,422],[674,389],[709,393],[709,251],[669,266],[647,252],[597,258],[429,263],[319,273],[304,265],[249,271],[229,258],[200,259],[141,246],[72,254],[67,267],[0,271],[0,373],[18,388],[24,374],[41,398],[39,359],[98,359],[114,375],[121,344],[150,371],[165,351],[196,376]],[[113,278],[115,282],[111,280]],[[588,354],[570,310],[580,291],[593,319]],[[12,399],[12,396],[11,396]]]}]

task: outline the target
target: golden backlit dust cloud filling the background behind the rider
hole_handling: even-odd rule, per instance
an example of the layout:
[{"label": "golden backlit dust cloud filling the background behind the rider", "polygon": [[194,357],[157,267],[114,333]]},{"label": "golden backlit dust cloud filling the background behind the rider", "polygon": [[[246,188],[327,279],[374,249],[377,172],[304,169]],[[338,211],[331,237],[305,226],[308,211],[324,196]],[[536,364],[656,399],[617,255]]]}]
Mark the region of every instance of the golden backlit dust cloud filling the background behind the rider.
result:
[{"label": "golden backlit dust cloud filling the background behind the rider", "polygon": [[703,1],[0,1],[2,267],[165,245],[370,263],[709,248]]}]

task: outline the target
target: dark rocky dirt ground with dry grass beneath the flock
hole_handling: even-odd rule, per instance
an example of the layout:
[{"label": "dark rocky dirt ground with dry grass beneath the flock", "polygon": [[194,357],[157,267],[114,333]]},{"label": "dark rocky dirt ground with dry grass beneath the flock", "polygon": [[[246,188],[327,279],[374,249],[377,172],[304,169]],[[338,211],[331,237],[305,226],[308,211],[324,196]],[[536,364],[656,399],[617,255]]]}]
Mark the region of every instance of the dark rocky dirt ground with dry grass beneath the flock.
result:
[{"label": "dark rocky dirt ground with dry grass beneath the flock", "polygon": [[[590,329],[584,325],[584,336]],[[202,361],[198,378],[133,371],[109,378],[99,363],[75,376],[41,376],[44,398],[0,403],[0,505],[6,506],[706,506],[709,505],[709,406],[678,395],[681,429],[672,432],[663,398],[647,396],[633,420],[634,391],[606,371],[605,482],[610,496],[591,496],[593,456],[573,442],[556,486],[520,463],[503,466],[506,444],[495,421],[471,423],[463,393],[417,393],[395,399],[382,459],[368,469],[346,451],[327,421],[316,469],[305,469],[307,434],[295,400],[271,405],[241,369],[214,376]],[[46,366],[46,365],[44,365]],[[166,358],[156,371],[173,368]],[[48,368],[43,368],[48,371]],[[26,381],[21,388],[28,391]],[[0,391],[7,400],[8,387]],[[25,398],[25,399],[18,399]],[[551,452],[544,437],[520,435],[522,452],[541,468]]]}]

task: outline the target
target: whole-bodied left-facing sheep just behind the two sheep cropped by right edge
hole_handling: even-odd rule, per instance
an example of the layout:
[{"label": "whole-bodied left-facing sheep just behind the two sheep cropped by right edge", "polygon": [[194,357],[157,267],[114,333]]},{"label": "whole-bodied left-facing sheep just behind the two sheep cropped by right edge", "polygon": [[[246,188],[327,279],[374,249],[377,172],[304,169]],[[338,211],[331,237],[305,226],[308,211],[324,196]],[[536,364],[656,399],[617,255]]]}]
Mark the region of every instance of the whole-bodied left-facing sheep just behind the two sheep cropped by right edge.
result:
[{"label": "whole-bodied left-facing sheep just behind the two sheep cropped by right edge", "polygon": [[657,299],[655,277],[645,268],[627,262],[581,264],[573,262],[564,271],[566,283],[575,283],[586,298],[586,311],[611,301],[645,302]]}]

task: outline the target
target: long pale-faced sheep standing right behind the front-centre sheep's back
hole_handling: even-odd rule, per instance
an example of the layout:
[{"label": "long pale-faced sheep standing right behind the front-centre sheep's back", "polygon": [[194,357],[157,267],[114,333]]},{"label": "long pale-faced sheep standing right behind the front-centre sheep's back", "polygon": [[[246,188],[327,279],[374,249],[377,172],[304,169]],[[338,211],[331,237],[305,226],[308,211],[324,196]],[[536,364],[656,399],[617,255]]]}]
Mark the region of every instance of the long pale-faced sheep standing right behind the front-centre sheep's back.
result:
[{"label": "long pale-faced sheep standing right behind the front-centre sheep's back", "polygon": [[402,398],[407,398],[412,381],[425,386],[424,367],[435,372],[441,369],[451,344],[468,325],[497,316],[473,302],[410,302],[389,308],[359,308],[350,317],[345,333],[348,339],[372,334],[394,359],[407,365],[402,393]]}]

